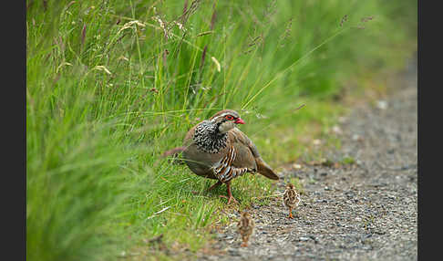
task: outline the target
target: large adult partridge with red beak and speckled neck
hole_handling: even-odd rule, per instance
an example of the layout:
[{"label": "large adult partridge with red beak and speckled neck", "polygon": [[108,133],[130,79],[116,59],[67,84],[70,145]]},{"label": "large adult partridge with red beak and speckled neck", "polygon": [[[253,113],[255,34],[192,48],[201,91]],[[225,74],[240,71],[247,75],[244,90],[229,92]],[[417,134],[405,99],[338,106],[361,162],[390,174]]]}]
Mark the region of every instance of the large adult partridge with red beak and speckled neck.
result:
[{"label": "large adult partridge with red beak and speckled neck", "polygon": [[217,180],[207,192],[226,184],[228,204],[238,201],[232,196],[232,179],[246,172],[259,172],[263,176],[279,180],[273,169],[263,161],[255,144],[237,128],[245,124],[235,110],[220,110],[208,120],[202,120],[189,130],[183,146],[163,153],[176,155],[181,151],[182,160],[191,172]]}]

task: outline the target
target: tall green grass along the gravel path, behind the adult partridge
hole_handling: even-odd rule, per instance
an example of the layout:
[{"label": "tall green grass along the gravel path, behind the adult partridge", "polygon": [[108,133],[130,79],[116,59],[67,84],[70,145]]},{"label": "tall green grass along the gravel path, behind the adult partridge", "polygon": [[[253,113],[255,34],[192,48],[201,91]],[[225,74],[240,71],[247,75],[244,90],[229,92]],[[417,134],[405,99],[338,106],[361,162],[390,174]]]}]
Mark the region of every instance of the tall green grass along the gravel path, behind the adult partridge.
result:
[{"label": "tall green grass along the gravel path, behind the adult partridge", "polygon": [[[277,167],[335,124],[345,82],[417,49],[417,1],[184,2],[187,19],[183,1],[26,1],[29,260],[114,260],[157,235],[201,249],[234,211],[225,186],[195,195],[213,181],[160,159],[197,118],[238,110]],[[266,204],[272,184],[233,194]]]}]

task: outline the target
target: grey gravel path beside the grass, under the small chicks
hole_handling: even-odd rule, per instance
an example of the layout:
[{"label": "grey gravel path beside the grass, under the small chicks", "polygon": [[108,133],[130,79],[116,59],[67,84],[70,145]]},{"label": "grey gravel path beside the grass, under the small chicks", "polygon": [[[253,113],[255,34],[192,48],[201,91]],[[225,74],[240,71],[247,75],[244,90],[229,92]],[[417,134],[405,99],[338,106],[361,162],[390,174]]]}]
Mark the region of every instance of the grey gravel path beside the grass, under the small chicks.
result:
[{"label": "grey gravel path beside the grass, under the small chicks", "polygon": [[250,245],[240,247],[232,223],[217,235],[215,254],[199,259],[417,260],[417,64],[389,88],[385,100],[342,120],[342,146],[326,152],[333,162],[355,163],[292,164],[281,173],[304,186],[294,220],[281,197],[252,206]]}]

